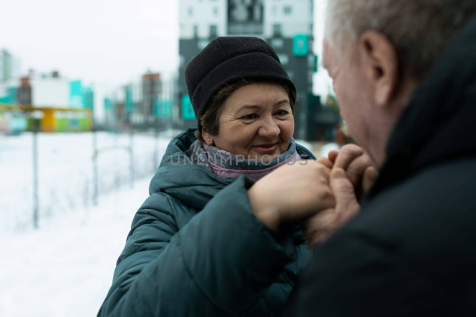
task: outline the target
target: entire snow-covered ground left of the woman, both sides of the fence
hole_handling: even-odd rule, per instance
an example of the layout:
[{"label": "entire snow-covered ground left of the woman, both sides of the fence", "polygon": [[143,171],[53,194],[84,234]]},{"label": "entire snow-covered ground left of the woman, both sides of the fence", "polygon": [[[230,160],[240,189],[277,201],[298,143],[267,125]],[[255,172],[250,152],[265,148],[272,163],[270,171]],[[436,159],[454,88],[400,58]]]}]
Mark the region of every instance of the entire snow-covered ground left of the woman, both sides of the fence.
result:
[{"label": "entire snow-covered ground left of the woman, both sides of the fence", "polygon": [[[0,136],[0,316],[95,316],[130,223],[149,195],[156,157],[173,132],[98,133],[99,196],[92,205],[92,134],[39,134],[39,229],[32,228],[32,134]],[[154,150],[158,146],[158,151]]]}]

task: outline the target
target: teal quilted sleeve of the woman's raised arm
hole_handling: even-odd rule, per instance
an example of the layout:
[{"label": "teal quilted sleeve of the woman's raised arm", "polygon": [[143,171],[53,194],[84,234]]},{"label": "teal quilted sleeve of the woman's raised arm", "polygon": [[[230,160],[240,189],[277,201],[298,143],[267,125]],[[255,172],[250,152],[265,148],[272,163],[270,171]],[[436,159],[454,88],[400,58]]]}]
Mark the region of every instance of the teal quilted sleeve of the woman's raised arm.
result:
[{"label": "teal quilted sleeve of the woman's raised arm", "polygon": [[178,202],[152,194],[98,316],[238,316],[256,304],[296,248],[253,215],[246,183],[218,192],[180,230],[170,205]]}]

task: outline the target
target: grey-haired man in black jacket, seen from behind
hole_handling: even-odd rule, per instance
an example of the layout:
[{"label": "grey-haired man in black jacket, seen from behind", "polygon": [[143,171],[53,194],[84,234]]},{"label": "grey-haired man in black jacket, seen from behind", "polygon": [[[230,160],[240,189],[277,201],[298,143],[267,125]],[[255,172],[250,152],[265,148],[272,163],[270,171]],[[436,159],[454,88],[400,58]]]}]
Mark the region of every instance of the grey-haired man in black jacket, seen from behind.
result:
[{"label": "grey-haired man in black jacket, seen from behind", "polygon": [[317,246],[285,316],[476,316],[476,1],[327,10],[325,67],[380,176]]}]

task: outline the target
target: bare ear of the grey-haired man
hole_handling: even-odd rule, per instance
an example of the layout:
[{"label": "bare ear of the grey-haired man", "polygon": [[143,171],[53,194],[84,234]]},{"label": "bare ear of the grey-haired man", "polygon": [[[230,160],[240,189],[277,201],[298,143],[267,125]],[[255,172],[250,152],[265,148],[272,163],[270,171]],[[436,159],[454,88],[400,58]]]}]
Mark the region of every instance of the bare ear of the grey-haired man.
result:
[{"label": "bare ear of the grey-haired man", "polygon": [[385,35],[372,30],[364,32],[357,45],[361,65],[374,86],[374,100],[378,106],[386,106],[397,92],[397,51]]}]

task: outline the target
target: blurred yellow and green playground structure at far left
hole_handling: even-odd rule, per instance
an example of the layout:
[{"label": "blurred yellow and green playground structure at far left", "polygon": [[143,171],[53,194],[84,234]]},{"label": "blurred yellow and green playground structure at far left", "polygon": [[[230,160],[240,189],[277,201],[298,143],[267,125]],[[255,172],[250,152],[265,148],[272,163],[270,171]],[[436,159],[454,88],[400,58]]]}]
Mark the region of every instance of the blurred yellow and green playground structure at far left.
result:
[{"label": "blurred yellow and green playground structure at far left", "polygon": [[39,132],[82,132],[92,128],[88,108],[34,107],[0,103],[0,132],[20,134],[33,131],[35,121]]}]

